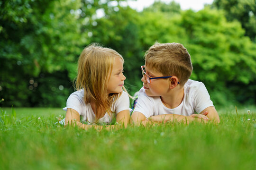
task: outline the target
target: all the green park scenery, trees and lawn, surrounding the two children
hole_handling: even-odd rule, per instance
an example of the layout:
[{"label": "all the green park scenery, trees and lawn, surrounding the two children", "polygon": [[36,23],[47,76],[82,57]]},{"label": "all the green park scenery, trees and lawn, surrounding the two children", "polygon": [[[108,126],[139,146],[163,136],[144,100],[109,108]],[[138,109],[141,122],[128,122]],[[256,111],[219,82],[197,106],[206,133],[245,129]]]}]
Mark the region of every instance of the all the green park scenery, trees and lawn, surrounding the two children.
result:
[{"label": "all the green park scenery, trees and lawn, surrounding the two children", "polygon": [[[133,94],[156,41],[188,49],[191,78],[206,85],[219,124],[99,132],[56,123],[85,46],[118,51]],[[139,11],[119,0],[1,0],[2,98],[0,170],[256,170],[256,0],[213,0],[201,10],[155,2]]]}]

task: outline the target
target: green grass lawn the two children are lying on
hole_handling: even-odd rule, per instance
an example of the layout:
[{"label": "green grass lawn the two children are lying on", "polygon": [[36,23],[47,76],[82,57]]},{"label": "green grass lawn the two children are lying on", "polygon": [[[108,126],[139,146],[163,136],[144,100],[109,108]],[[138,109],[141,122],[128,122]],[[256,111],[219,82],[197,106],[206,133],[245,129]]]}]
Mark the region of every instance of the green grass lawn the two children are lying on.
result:
[{"label": "green grass lawn the two children are lying on", "polygon": [[55,125],[61,109],[17,108],[16,119],[14,111],[4,110],[0,170],[256,170],[255,107],[238,108],[238,116],[234,107],[219,110],[218,125],[170,123],[101,132]]}]

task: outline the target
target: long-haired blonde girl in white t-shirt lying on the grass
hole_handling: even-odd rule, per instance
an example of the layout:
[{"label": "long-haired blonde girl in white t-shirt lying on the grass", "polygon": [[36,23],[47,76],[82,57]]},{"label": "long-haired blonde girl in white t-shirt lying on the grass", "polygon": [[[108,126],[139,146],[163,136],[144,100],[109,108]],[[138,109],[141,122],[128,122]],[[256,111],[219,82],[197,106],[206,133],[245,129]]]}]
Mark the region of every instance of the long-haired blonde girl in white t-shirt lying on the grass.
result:
[{"label": "long-haired blonde girl in white t-shirt lying on the grass", "polygon": [[[123,63],[122,56],[112,49],[95,43],[84,48],[78,59],[77,91],[69,96],[64,108],[65,126],[101,129],[103,126],[95,123],[109,124],[114,117],[118,124],[127,126],[129,96],[124,87]],[[82,124],[80,117],[89,124]]]}]

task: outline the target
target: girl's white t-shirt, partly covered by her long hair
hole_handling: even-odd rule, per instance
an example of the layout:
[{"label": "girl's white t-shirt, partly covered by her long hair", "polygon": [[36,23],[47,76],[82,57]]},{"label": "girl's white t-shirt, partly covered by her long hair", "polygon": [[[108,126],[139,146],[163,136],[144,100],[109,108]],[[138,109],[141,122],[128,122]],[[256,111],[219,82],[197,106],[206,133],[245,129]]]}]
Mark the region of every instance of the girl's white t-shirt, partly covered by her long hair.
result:
[{"label": "girl's white t-shirt, partly covered by her long hair", "polygon": [[[67,107],[63,108],[63,110],[67,110],[67,108],[71,108],[76,110],[79,115],[82,117],[81,121],[88,121],[88,123],[95,122],[95,114],[91,108],[91,103],[85,103],[83,100],[84,90],[81,89],[76,91],[67,99]],[[111,106],[111,110],[115,112],[114,117],[122,110],[129,110],[129,96],[128,93],[122,92],[116,102],[114,102]],[[109,124],[113,119],[113,115],[109,116],[108,113],[99,119],[99,123]]]}]

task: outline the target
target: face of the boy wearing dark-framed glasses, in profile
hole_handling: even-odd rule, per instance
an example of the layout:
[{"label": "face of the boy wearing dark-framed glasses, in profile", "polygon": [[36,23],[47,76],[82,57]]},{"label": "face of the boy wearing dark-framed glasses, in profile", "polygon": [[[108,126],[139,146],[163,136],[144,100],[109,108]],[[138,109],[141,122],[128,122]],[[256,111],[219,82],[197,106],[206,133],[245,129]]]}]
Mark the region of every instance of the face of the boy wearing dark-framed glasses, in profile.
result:
[{"label": "face of the boy wearing dark-framed glasses, in profile", "polygon": [[[147,67],[146,65],[145,69],[148,76],[164,76],[162,73],[153,68]],[[163,96],[169,90],[170,82],[168,78],[151,79],[151,82],[148,83],[145,76],[143,76],[141,81],[143,82],[143,88],[148,96]]]}]

